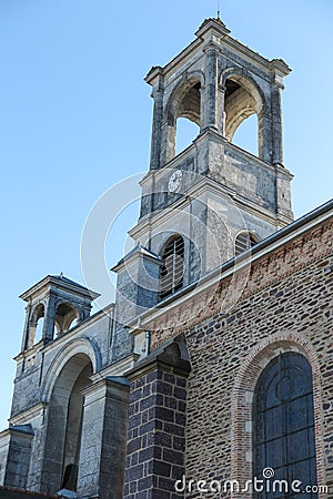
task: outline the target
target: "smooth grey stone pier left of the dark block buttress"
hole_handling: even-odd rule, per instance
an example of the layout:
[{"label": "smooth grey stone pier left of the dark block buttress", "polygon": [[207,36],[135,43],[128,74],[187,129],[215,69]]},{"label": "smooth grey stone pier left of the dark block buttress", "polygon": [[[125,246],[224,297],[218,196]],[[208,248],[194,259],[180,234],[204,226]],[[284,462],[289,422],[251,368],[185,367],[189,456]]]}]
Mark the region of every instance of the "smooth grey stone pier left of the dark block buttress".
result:
[{"label": "smooth grey stone pier left of the dark block buttress", "polygon": [[83,390],[78,496],[122,499],[129,381],[105,378]]}]

